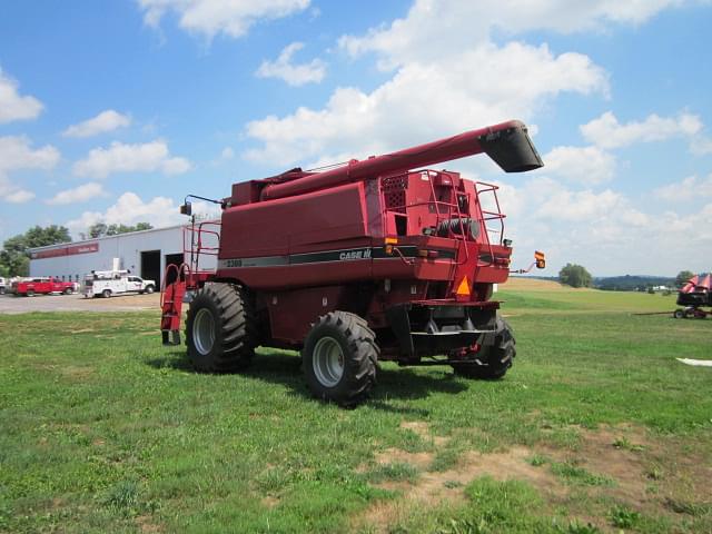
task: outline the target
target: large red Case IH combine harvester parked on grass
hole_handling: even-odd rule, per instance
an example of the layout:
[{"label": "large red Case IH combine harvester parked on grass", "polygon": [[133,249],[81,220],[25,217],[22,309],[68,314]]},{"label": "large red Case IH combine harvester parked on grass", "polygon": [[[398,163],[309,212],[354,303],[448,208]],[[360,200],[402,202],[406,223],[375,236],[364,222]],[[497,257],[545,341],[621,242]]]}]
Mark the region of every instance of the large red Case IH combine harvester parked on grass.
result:
[{"label": "large red Case IH combine harvester parked on grass", "polygon": [[[513,120],[322,172],[234,184],[219,201],[219,245],[204,245],[212,224],[194,224],[190,264],[169,267],[164,343],[180,343],[189,301],[186,343],[198,370],[239,369],[257,346],[300,349],[312,392],[343,406],[368,394],[379,360],[504,376],[515,340],[490,298],[510,275],[512,241],[497,187],[412,170],[481,152],[507,172],[543,165]],[[197,268],[205,254],[217,255],[216,271]],[[535,263],[544,267],[541,253]]]}]

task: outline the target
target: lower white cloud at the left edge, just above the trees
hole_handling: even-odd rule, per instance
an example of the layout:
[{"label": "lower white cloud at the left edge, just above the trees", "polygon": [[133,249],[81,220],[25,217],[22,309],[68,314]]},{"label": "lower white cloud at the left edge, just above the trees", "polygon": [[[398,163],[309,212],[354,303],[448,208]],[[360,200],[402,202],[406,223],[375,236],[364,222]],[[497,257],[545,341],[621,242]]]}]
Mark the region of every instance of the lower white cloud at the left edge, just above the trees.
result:
[{"label": "lower white cloud at the left edge, just above the trees", "polygon": [[0,137],[0,200],[21,204],[34,198],[34,194],[23,189],[10,179],[16,170],[53,168],[60,159],[59,150],[51,145],[33,149],[24,136]]}]

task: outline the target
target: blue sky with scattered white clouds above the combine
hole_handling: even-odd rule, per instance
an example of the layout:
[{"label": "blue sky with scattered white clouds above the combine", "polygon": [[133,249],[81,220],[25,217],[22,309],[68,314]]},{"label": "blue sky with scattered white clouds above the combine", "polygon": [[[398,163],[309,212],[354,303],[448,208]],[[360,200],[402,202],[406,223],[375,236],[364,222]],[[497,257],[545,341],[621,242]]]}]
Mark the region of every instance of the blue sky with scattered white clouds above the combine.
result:
[{"label": "blue sky with scattered white clouds above the combine", "polygon": [[709,1],[4,1],[0,239],[181,221],[186,194],[510,118],[546,166],[503,175],[518,264],[709,270]]}]

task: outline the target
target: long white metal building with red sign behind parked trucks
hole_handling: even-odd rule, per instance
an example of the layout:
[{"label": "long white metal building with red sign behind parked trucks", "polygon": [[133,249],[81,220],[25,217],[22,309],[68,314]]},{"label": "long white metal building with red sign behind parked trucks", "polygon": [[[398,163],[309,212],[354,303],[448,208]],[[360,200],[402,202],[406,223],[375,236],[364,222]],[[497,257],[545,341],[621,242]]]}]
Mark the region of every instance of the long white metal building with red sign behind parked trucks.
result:
[{"label": "long white metal building with red sign behind parked trucks", "polygon": [[[217,230],[204,222],[205,230]],[[92,270],[128,269],[161,284],[166,266],[190,261],[189,226],[171,226],[30,249],[30,276],[80,281]],[[204,247],[217,247],[217,235],[204,231]],[[197,240],[197,234],[196,234]],[[184,246],[185,241],[185,246]],[[184,250],[187,250],[184,254]],[[201,269],[215,269],[216,256],[200,255]]]}]

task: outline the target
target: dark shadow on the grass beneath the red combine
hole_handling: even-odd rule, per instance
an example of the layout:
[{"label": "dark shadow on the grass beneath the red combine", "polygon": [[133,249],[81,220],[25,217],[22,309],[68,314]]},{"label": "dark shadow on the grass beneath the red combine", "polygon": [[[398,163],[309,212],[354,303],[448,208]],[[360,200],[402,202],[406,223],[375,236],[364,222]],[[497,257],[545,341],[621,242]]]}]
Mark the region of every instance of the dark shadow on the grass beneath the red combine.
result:
[{"label": "dark shadow on the grass beneath the red combine", "polygon": [[[185,352],[172,350],[160,357],[151,358],[147,365],[160,369],[197,373]],[[446,367],[443,367],[446,369]],[[285,352],[260,350],[255,355],[251,365],[239,375],[289,387],[291,394],[298,397],[312,399],[314,396],[307,388],[301,370],[301,358],[298,354]],[[417,408],[396,407],[388,400],[425,398],[434,393],[458,394],[467,389],[467,385],[456,379],[454,375],[445,370],[439,376],[424,375],[412,368],[380,367],[377,375],[377,385],[370,394],[366,405],[388,412],[408,412],[427,415],[427,411]]]}]

